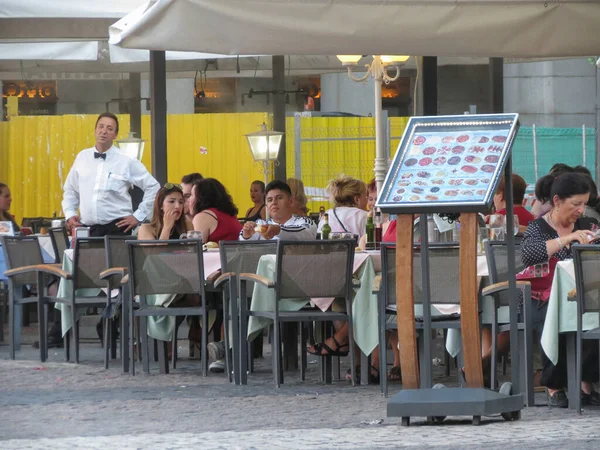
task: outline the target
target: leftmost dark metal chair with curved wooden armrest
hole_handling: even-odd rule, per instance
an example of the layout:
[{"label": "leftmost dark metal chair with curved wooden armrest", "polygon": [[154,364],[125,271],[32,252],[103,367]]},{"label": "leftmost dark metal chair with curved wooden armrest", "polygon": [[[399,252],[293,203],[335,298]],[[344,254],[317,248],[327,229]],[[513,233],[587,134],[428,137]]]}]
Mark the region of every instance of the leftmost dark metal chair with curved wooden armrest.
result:
[{"label": "leftmost dark metal chair with curved wooden armrest", "polygon": [[[8,278],[9,293],[9,357],[15,359],[15,333],[16,317],[15,308],[29,303],[37,303],[39,322],[40,360],[46,361],[48,345],[46,340],[48,322],[48,304],[64,303],[63,299],[46,295],[46,274],[55,275],[63,279],[70,279],[70,274],[64,272],[57,265],[44,264],[42,250],[36,236],[9,237],[2,236],[2,249],[6,260],[5,276]],[[23,292],[26,286],[36,286],[36,297],[25,297]],[[66,339],[65,339],[66,347]]]}]

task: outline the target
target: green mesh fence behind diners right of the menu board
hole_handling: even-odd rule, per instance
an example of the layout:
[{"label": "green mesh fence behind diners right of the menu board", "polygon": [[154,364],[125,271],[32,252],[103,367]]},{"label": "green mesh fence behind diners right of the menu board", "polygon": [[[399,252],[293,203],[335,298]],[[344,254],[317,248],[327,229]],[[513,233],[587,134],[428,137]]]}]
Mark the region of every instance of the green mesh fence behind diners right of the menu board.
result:
[{"label": "green mesh fence behind diners right of the menu board", "polygon": [[[584,158],[582,128],[536,127],[537,165],[535,173],[534,135],[532,127],[521,127],[513,146],[513,172],[518,173],[533,188],[537,178],[546,175],[556,163],[570,166],[585,165],[595,179],[595,129],[586,128]],[[585,164],[584,164],[585,161]]]}]

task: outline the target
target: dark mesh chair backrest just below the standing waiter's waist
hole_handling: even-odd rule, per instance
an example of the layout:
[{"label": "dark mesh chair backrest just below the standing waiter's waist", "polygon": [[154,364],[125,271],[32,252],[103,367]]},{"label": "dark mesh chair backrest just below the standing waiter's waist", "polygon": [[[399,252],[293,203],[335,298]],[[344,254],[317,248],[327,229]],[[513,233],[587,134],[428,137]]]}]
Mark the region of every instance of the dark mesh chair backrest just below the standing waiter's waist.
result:
[{"label": "dark mesh chair backrest just below the standing waiter's waist", "polygon": [[106,270],[104,238],[77,238],[73,252],[73,289],[103,288],[100,273]]}]

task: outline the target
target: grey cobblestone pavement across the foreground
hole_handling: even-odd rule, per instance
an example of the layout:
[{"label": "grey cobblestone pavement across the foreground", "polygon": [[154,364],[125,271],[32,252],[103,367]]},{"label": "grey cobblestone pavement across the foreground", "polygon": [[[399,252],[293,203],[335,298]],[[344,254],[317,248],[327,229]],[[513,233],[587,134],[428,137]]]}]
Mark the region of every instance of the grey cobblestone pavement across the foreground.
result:
[{"label": "grey cobblestone pavement across the foreground", "polygon": [[[459,417],[434,426],[414,419],[406,428],[386,417],[378,386],[325,386],[316,364],[307,381],[290,372],[275,389],[268,354],[248,386],[232,386],[222,374],[203,378],[189,359],[169,375],[124,375],[118,360],[105,371],[98,344],[82,346],[79,365],[62,362],[62,350],[51,350],[45,364],[29,346],[16,361],[7,355],[0,347],[2,449],[600,448],[598,410],[577,416],[540,406],[516,422],[485,418],[476,427]],[[537,402],[544,403],[542,394]]]}]

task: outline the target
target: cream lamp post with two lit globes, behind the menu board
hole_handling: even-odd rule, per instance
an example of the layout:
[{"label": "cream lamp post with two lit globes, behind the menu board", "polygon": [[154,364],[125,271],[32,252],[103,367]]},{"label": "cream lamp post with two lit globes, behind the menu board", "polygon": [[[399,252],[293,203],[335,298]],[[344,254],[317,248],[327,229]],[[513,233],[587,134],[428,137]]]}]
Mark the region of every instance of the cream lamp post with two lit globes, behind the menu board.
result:
[{"label": "cream lamp post with two lit globes, behind the menu board", "polygon": [[[342,65],[348,68],[348,76],[357,82],[366,82],[369,76],[375,81],[375,182],[377,183],[377,192],[381,192],[385,174],[387,172],[387,158],[385,155],[385,146],[383,142],[383,124],[382,124],[382,104],[381,104],[381,83],[389,84],[400,77],[400,66],[410,58],[410,56],[394,55],[373,55],[373,62],[365,64],[367,73],[357,78],[352,74],[352,67],[358,64],[362,58],[361,55],[337,55]],[[389,76],[387,69],[393,67],[396,69],[394,76]]]}]

